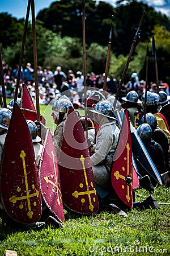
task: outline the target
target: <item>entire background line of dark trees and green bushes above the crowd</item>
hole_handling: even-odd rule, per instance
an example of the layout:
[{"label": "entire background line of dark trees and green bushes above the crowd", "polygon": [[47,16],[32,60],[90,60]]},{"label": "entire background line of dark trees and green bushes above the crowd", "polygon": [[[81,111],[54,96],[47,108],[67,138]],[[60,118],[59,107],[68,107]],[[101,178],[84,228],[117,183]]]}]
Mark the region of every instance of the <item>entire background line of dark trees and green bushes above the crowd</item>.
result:
[{"label": "entire background line of dark trees and green bushes above the crowd", "polygon": [[[156,12],[146,3],[136,0],[117,1],[113,7],[103,1],[86,1],[86,69],[96,74],[104,73],[107,58],[111,17],[113,16],[112,47],[109,74],[121,78],[125,63],[135,35],[135,28],[145,10],[135,52],[131,59],[126,80],[137,72],[145,80],[146,45],[150,39],[148,81],[155,82],[154,57],[151,53],[151,37],[155,35],[159,78],[170,82],[169,33],[170,19]],[[0,44],[3,60],[11,68],[19,63],[22,45],[24,19],[16,19],[8,13],[0,14]],[[60,0],[53,2],[48,9],[36,16],[37,60],[42,67],[48,65],[52,71],[61,65],[63,71],[72,69],[83,71],[82,59],[82,1]],[[23,66],[33,64],[32,25],[28,24]]]}]

